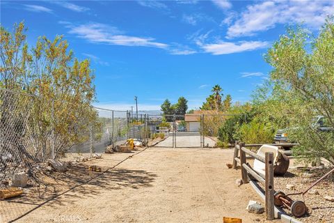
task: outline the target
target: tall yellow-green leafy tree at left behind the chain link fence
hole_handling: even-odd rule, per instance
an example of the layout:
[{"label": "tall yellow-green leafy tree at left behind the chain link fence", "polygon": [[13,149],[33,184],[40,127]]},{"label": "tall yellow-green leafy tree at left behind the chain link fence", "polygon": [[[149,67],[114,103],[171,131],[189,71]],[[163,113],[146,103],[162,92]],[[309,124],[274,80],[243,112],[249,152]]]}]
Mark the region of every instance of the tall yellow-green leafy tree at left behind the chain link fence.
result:
[{"label": "tall yellow-green leafy tree at left behind the chain link fence", "polygon": [[52,130],[57,155],[86,140],[89,125],[99,129],[100,124],[91,107],[95,86],[90,62],[75,59],[63,36],[40,37],[29,49],[25,30],[23,22],[14,25],[13,33],[0,28],[0,86],[20,93],[1,91],[0,134],[8,142],[6,152],[33,162],[49,158]]}]

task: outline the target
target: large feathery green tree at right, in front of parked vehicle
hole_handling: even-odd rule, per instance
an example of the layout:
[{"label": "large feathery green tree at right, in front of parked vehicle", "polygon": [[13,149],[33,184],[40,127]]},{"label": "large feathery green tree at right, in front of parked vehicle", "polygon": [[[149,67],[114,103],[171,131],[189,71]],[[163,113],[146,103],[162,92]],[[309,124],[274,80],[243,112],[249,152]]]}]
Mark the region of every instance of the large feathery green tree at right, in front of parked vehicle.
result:
[{"label": "large feathery green tree at right, in front of parked vehicle", "polygon": [[[334,164],[334,22],[326,20],[319,36],[297,26],[289,28],[269,49],[266,61],[273,67],[272,97],[281,100],[276,112],[289,114],[289,137],[300,143],[295,154],[325,157]],[[319,131],[317,115],[328,120],[331,131]]]}]

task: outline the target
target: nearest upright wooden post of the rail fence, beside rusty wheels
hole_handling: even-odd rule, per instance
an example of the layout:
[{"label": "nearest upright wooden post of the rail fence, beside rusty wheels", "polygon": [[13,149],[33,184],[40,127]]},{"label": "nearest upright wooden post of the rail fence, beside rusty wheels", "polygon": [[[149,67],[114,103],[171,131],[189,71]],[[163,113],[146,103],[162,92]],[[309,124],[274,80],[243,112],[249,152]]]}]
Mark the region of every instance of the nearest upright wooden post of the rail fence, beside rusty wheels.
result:
[{"label": "nearest upright wooden post of the rail fence, beside rusty wheels", "polygon": [[273,203],[273,153],[266,153],[266,215],[267,220],[275,218]]}]

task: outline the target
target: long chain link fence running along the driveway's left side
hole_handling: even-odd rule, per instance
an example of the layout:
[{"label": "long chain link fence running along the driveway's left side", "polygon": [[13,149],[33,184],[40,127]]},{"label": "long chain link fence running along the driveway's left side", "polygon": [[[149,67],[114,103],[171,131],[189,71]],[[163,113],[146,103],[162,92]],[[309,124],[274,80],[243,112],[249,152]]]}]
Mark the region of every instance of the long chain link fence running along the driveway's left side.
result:
[{"label": "long chain link fence running along the driveway's left side", "polygon": [[145,139],[145,120],[143,114],[137,121],[128,111],[0,89],[0,180],[33,173],[49,159]]}]

